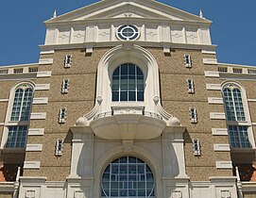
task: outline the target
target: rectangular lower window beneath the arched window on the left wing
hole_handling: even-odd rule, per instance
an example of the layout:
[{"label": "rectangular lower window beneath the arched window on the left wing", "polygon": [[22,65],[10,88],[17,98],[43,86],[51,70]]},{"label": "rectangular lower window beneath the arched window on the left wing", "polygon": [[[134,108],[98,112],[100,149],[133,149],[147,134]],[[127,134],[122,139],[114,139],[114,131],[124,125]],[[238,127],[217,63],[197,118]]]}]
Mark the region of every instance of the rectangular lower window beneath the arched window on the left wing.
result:
[{"label": "rectangular lower window beneath the arched window on the left wing", "polygon": [[6,148],[25,148],[26,146],[26,125],[9,126]]}]

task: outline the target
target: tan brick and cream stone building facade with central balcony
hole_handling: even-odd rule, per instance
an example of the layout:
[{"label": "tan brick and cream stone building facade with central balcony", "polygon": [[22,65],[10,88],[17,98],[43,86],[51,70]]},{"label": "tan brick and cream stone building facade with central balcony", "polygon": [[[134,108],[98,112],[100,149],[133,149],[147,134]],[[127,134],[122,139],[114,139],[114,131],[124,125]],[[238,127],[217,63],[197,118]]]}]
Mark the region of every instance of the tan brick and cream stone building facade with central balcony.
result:
[{"label": "tan brick and cream stone building facade with central balcony", "polygon": [[102,0],[45,22],[38,63],[0,68],[0,197],[251,198],[256,68],[212,22]]}]

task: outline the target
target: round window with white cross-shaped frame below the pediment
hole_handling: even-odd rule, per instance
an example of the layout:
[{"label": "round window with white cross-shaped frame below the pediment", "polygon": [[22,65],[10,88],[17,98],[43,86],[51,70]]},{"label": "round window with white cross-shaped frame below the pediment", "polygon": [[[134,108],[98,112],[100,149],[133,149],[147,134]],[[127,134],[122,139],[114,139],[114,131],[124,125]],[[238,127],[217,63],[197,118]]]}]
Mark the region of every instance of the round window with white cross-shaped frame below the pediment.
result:
[{"label": "round window with white cross-shaped frame below the pediment", "polygon": [[122,25],[118,28],[117,37],[123,41],[132,41],[140,36],[139,30],[134,25]]}]

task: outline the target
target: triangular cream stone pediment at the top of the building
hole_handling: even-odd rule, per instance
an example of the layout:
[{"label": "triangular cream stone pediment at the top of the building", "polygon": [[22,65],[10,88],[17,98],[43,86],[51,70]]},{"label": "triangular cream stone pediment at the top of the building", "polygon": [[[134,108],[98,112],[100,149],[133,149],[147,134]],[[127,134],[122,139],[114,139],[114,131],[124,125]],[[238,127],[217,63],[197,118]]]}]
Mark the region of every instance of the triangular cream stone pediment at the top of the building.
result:
[{"label": "triangular cream stone pediment at the top of the building", "polygon": [[46,24],[126,17],[211,23],[209,20],[154,0],[102,0],[52,18],[46,21]]}]

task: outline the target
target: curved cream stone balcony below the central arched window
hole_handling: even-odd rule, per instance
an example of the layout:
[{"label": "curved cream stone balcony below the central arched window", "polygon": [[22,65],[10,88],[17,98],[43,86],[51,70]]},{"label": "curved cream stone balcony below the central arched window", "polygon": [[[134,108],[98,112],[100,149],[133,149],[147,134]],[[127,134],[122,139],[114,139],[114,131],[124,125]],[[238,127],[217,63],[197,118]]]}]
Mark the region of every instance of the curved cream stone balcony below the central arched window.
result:
[{"label": "curved cream stone balcony below the central arched window", "polygon": [[166,123],[144,107],[111,107],[111,112],[95,115],[90,125],[100,139],[150,140],[161,136]]}]

